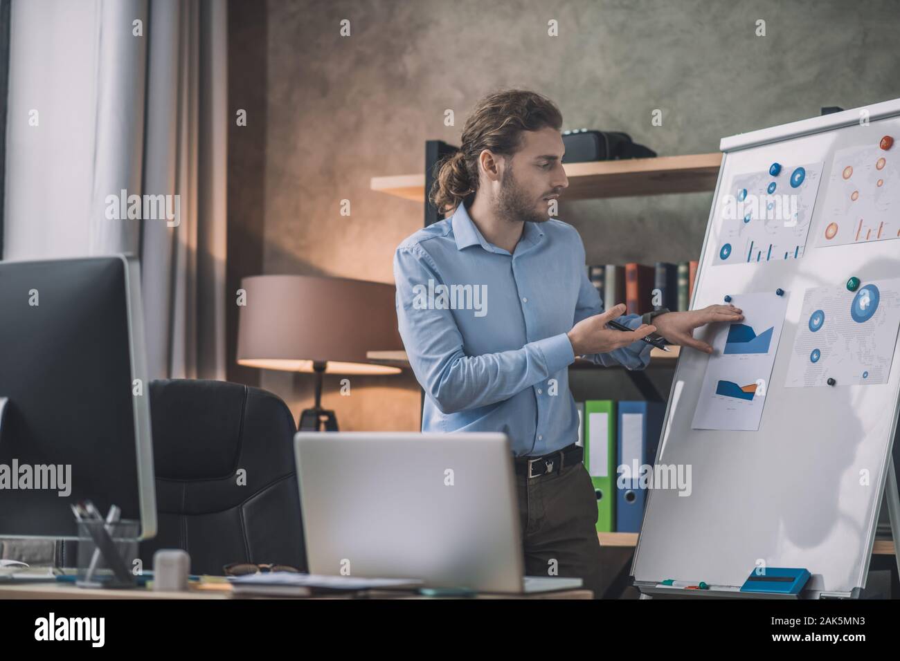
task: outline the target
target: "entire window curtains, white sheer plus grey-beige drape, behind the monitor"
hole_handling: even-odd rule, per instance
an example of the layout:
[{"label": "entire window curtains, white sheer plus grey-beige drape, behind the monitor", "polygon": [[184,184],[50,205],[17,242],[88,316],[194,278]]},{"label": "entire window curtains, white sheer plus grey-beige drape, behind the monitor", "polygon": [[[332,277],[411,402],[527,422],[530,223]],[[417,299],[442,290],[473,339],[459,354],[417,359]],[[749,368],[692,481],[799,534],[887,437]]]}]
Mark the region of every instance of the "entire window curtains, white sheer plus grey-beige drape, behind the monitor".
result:
[{"label": "entire window curtains, white sheer plus grey-beige drape, behind the monitor", "polygon": [[[227,11],[11,7],[3,256],[139,255],[152,379],[225,379]],[[122,190],[177,196],[178,226],[107,218]]]}]

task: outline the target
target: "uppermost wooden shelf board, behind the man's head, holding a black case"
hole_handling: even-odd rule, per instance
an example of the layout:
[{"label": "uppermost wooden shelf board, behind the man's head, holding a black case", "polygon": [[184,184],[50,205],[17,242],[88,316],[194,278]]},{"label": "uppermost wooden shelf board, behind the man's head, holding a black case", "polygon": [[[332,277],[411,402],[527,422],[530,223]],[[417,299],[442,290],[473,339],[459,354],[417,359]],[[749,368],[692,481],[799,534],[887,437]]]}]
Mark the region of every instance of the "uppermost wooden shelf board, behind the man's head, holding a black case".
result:
[{"label": "uppermost wooden shelf board, behind the man's head, holding a black case", "polygon": [[[621,161],[591,161],[564,165],[569,188],[563,201],[592,200],[635,195],[662,195],[716,190],[722,154],[687,154],[629,158]],[[372,177],[373,191],[412,201],[425,201],[424,174]]]}]

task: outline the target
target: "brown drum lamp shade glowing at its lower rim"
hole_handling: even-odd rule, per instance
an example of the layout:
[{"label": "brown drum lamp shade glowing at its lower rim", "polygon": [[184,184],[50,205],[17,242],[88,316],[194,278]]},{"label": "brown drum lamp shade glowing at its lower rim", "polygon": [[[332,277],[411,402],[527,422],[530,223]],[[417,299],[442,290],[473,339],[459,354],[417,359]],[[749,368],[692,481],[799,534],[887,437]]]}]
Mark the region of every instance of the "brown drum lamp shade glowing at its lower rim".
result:
[{"label": "brown drum lamp shade glowing at its lower rim", "polygon": [[366,352],[403,348],[394,287],[382,282],[310,275],[256,275],[241,280],[238,363],[267,370],[312,371],[326,362],[338,374],[400,370],[369,362]]}]

